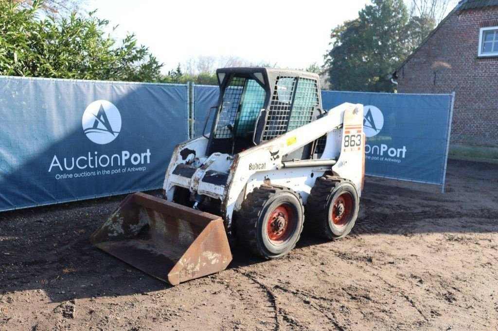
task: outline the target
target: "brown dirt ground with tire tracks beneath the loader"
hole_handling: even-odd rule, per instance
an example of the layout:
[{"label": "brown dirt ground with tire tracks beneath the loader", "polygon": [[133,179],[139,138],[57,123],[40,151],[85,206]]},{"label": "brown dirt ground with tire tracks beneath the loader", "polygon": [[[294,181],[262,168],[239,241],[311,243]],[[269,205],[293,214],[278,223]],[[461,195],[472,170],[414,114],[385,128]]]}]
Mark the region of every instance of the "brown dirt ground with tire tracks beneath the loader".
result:
[{"label": "brown dirt ground with tire tracks beneath the loader", "polygon": [[122,197],[0,213],[0,330],[498,328],[498,165],[367,178],[351,235],[168,286],[92,248]]}]

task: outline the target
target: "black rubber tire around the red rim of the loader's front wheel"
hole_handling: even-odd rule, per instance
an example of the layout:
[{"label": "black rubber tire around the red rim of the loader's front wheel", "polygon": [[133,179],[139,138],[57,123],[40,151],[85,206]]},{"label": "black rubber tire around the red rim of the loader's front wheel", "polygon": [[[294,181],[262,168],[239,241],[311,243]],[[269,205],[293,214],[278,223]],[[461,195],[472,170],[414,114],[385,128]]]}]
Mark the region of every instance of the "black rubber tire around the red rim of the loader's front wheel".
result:
[{"label": "black rubber tire around the red rim of the loader's front wheel", "polygon": [[[268,217],[279,205],[286,204],[295,212],[295,224],[283,243],[275,245],[267,234]],[[263,184],[248,194],[242,202],[237,218],[239,244],[256,255],[270,259],[287,254],[299,241],[304,224],[304,206],[293,190],[277,185]]]}]

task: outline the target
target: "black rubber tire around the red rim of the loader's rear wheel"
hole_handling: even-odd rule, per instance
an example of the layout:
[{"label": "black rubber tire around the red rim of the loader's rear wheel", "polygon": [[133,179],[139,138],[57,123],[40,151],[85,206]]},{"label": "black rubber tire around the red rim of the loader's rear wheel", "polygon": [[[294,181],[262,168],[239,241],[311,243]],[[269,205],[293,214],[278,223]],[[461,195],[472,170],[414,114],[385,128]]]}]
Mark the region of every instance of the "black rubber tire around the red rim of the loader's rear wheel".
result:
[{"label": "black rubber tire around the red rim of the loader's rear wheel", "polygon": [[[352,215],[344,227],[338,228],[330,217],[331,204],[345,192],[352,197]],[[318,177],[306,201],[306,230],[328,240],[346,237],[355,226],[359,209],[360,199],[351,181],[330,175]]]}]

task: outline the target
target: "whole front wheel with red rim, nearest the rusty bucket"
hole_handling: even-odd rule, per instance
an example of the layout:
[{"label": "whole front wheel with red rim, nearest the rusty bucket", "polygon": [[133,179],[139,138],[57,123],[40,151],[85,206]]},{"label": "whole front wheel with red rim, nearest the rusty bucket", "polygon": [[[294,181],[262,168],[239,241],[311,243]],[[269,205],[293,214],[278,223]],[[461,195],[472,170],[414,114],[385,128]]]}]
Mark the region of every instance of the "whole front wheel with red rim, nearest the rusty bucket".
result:
[{"label": "whole front wheel with red rim, nearest the rusty bucket", "polygon": [[304,223],[303,203],[289,188],[261,185],[243,201],[237,219],[240,244],[265,258],[278,258],[296,246]]}]

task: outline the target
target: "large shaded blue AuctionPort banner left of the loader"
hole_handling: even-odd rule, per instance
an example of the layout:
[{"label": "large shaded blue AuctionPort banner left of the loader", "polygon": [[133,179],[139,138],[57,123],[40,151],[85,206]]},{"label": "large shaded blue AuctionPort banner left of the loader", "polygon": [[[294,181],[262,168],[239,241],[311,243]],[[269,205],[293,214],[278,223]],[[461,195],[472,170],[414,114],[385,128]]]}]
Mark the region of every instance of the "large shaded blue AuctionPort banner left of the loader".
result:
[{"label": "large shaded blue AuctionPort banner left of the loader", "polygon": [[187,84],[0,77],[0,210],[155,189]]}]

